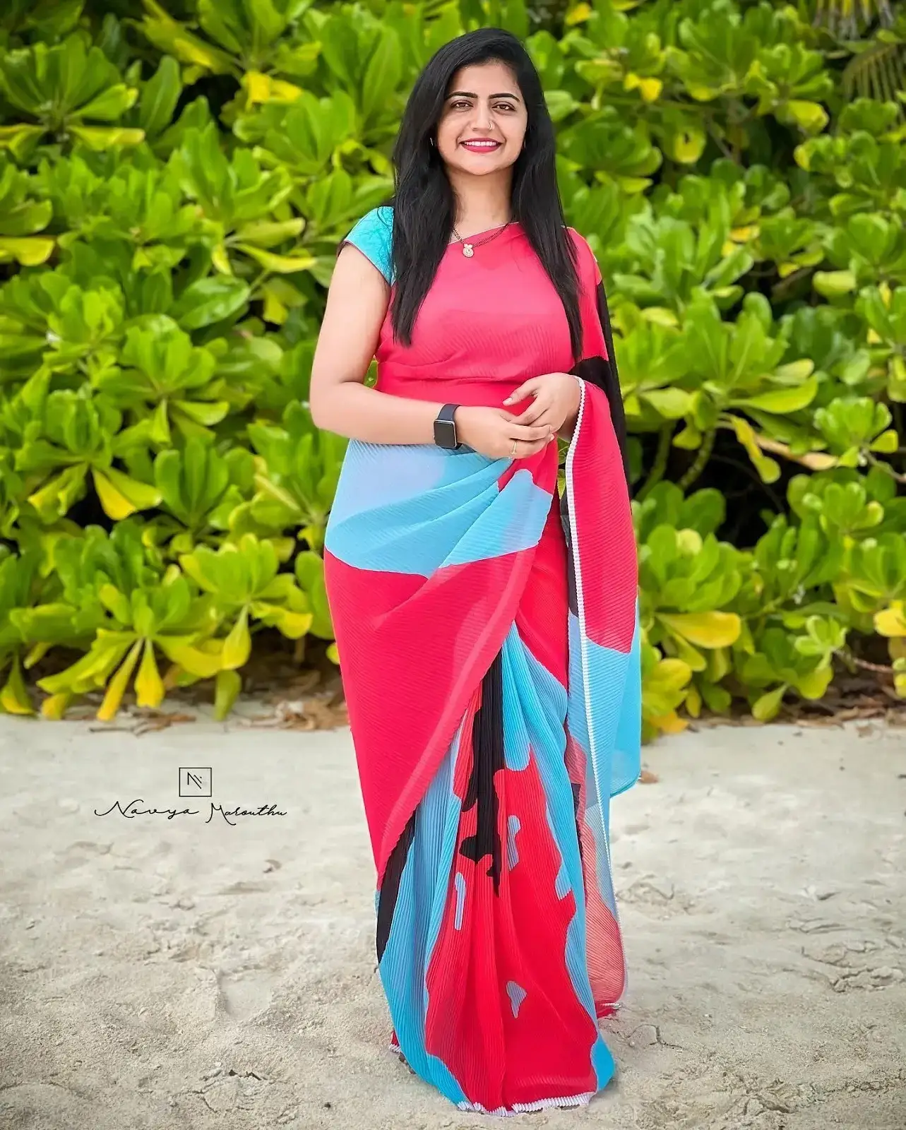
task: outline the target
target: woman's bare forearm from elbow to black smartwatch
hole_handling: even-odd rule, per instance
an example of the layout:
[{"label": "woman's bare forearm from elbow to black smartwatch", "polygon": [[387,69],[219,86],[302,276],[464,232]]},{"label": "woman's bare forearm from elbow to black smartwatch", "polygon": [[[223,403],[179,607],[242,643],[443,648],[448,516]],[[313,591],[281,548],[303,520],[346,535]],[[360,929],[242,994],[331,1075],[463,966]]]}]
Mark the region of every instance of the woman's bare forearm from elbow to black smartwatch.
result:
[{"label": "woman's bare forearm from elbow to black smartwatch", "polygon": [[412,400],[343,381],[311,400],[312,417],[325,432],[363,443],[434,443],[441,401]]}]

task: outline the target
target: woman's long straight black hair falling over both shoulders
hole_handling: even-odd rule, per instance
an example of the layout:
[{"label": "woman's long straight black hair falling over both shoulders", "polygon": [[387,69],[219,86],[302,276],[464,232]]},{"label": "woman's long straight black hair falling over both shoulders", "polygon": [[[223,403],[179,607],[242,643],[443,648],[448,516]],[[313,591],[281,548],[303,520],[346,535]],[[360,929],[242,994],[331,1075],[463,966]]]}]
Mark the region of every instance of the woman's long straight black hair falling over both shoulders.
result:
[{"label": "woman's long straight black hair falling over both shoulders", "polygon": [[581,357],[576,247],[566,231],[557,188],[556,139],[541,79],[529,52],[512,33],[482,27],[444,44],[425,66],[406,104],[393,147],[395,192],[391,307],[393,336],[411,345],[412,327],[447,249],[455,223],[455,198],[444,163],[430,144],[450,82],[461,67],[502,62],[514,72],[528,110],[525,145],[513,166],[512,219],[525,235],[557,289],[569,323],[575,360]]}]

